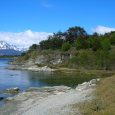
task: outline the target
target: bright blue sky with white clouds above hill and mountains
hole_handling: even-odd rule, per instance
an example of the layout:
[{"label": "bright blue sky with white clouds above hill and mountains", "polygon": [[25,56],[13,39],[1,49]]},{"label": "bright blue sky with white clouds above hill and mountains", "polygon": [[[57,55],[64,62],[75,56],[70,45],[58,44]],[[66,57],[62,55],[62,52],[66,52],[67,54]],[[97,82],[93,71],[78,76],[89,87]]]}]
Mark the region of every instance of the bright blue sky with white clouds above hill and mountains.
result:
[{"label": "bright blue sky with white clouds above hill and mountains", "polygon": [[81,26],[115,31],[115,0],[0,0],[0,40],[29,47],[53,32]]}]

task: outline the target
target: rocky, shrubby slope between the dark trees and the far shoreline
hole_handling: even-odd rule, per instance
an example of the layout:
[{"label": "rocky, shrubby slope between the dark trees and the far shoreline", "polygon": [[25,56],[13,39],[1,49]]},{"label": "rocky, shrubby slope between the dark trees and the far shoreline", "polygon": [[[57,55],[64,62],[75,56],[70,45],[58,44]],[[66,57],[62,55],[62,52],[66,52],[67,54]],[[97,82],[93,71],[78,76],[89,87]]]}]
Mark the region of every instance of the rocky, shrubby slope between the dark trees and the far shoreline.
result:
[{"label": "rocky, shrubby slope between the dark trees and the far shoreline", "polygon": [[[33,63],[38,60],[41,65],[53,68],[115,70],[115,48],[109,51],[92,51],[91,49],[79,51],[70,49],[66,52],[60,50],[28,51],[17,58],[15,63],[24,64],[32,60]],[[58,60],[61,60],[62,63],[57,63]],[[53,65],[52,62],[57,64]]]}]

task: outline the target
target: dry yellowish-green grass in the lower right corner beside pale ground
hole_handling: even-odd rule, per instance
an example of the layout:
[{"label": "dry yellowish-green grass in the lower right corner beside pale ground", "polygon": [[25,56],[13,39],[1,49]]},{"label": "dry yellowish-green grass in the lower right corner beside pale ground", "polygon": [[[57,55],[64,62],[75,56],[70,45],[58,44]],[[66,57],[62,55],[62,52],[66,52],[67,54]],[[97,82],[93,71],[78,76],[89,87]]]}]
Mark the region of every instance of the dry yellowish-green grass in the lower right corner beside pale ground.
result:
[{"label": "dry yellowish-green grass in the lower right corner beside pale ground", "polygon": [[95,99],[78,105],[83,115],[115,115],[115,75],[99,82]]}]

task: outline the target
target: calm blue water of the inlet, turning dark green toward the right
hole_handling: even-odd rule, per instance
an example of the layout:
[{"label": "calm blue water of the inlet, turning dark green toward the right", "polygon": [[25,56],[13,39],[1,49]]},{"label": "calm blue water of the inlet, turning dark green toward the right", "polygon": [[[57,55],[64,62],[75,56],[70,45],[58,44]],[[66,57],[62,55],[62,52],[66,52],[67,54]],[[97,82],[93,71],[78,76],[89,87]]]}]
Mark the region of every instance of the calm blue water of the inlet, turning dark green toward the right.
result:
[{"label": "calm blue water of the inlet, turning dark green toward the right", "polygon": [[19,87],[22,91],[29,87],[67,85],[74,87],[79,83],[92,79],[92,75],[43,73],[22,70],[8,70],[11,59],[0,59],[0,90]]}]

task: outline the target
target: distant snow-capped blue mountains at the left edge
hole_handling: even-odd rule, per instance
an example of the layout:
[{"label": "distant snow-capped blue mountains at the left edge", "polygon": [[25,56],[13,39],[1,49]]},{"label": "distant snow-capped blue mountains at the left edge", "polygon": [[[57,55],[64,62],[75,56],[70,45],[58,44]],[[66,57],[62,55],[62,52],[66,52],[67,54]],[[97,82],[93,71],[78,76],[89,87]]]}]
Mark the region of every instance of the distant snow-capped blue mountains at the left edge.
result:
[{"label": "distant snow-capped blue mountains at the left edge", "polygon": [[15,45],[10,45],[5,41],[0,41],[0,56],[21,55],[23,50],[20,50]]}]

